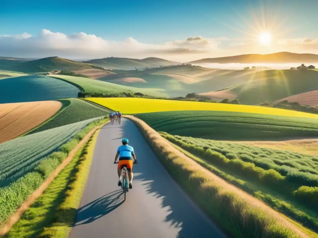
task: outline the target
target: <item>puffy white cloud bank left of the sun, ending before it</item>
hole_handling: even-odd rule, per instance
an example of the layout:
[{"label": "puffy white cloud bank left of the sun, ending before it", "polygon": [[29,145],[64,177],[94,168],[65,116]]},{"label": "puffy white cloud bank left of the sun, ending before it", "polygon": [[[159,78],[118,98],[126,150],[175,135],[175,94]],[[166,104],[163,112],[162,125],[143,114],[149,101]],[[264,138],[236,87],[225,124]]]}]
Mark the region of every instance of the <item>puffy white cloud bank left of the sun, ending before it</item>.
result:
[{"label": "puffy white cloud bank left of the sun, ending before it", "polygon": [[225,39],[225,37],[217,40],[195,36],[163,44],[145,44],[132,37],[124,41],[109,41],[83,32],[66,35],[44,29],[37,36],[28,33],[16,36],[0,35],[0,55],[73,58],[163,56],[171,59],[183,55],[184,59],[185,54],[190,56],[208,54],[217,49],[219,41]]}]

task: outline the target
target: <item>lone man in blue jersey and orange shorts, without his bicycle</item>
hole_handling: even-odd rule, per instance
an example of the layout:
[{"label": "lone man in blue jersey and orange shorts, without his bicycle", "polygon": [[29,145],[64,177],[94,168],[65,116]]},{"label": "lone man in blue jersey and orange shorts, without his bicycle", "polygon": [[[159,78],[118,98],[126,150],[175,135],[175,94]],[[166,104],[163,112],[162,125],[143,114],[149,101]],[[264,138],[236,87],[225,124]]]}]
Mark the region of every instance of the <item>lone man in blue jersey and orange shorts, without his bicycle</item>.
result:
[{"label": "lone man in blue jersey and orange shorts, without his bicycle", "polygon": [[129,178],[129,188],[133,188],[133,185],[131,184],[133,181],[133,160],[131,159],[131,156],[134,157],[135,162],[137,162],[136,155],[134,152],[134,148],[128,145],[128,139],[124,138],[121,140],[122,145],[118,147],[117,153],[115,156],[115,162],[119,156],[119,161],[118,161],[118,167],[117,167],[117,172],[118,172],[118,186],[121,186],[121,170],[126,166],[128,170],[128,178]]}]

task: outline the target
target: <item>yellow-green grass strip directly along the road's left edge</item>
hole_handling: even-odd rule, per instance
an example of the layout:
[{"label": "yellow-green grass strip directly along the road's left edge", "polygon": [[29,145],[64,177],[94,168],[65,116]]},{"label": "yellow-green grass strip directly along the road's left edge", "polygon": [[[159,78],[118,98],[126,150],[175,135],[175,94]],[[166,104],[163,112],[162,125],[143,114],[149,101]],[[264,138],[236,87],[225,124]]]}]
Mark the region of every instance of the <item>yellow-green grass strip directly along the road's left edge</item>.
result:
[{"label": "yellow-green grass strip directly along the road's left edge", "polygon": [[7,237],[68,237],[85,188],[98,132],[77,151]]}]

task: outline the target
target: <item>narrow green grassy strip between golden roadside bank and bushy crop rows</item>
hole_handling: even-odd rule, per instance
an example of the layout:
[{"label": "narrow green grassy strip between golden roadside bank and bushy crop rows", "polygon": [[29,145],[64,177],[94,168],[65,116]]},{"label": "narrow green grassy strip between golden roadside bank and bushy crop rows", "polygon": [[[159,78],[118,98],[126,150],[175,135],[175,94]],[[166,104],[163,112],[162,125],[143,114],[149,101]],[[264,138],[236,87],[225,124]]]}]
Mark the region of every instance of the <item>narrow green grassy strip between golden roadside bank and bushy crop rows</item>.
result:
[{"label": "narrow green grassy strip between golden roadside bank and bushy crop rows", "polygon": [[[274,198],[272,195],[269,195],[267,193],[261,192],[261,186],[255,185],[249,181],[246,181],[238,176],[233,175],[233,173],[227,173],[225,171],[222,171],[218,169],[217,167],[213,166],[213,164],[209,163],[208,161],[201,159],[190,152],[182,149],[178,145],[171,142],[171,144],[181,151],[183,154],[188,156],[189,158],[196,161],[198,164],[203,166],[204,168],[210,170],[215,175],[218,175],[220,178],[224,179],[226,182],[229,182],[233,184],[234,186],[241,188],[245,192],[249,193],[250,195],[258,198],[259,200],[265,202],[267,205],[272,207],[278,212],[281,212],[291,219],[301,223],[303,226],[306,226],[310,229],[313,229],[315,231],[318,230],[318,219],[316,219],[314,216],[310,216],[304,211],[301,211],[294,207],[294,205],[289,204],[288,202],[285,202],[283,200]],[[253,181],[255,182],[255,181]],[[288,219],[288,218],[287,218]],[[318,238],[318,235],[315,232],[311,232],[308,229],[304,229],[299,223],[296,223],[294,221],[291,221],[294,223],[295,226],[299,227],[299,229],[303,230],[306,234],[308,234],[310,237],[316,237]]]}]

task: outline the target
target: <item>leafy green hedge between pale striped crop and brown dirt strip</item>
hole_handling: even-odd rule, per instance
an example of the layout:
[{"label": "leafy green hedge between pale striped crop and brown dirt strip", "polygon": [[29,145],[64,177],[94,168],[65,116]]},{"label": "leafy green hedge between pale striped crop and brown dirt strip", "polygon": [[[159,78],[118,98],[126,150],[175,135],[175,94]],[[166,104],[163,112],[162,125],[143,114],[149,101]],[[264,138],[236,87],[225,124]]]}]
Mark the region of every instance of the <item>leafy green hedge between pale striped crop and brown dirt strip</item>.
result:
[{"label": "leafy green hedge between pale striped crop and brown dirt strip", "polygon": [[0,188],[0,226],[5,223],[9,216],[13,214],[29,195],[63,162],[86,134],[107,120],[108,118],[91,122],[83,130],[79,131],[73,139],[64,144],[61,147],[61,151],[53,152],[51,155],[42,159],[39,165],[31,172],[9,186]]}]

